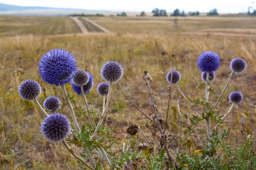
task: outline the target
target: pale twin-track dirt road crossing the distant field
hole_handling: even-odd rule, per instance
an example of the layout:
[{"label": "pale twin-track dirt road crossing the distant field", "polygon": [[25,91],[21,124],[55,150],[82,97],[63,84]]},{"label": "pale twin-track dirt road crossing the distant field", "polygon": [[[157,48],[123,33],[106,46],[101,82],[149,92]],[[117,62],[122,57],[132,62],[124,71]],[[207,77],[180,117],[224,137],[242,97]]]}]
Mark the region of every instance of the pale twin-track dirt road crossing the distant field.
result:
[{"label": "pale twin-track dirt road crossing the distant field", "polygon": [[[85,25],[83,24],[83,22],[81,22],[78,17],[70,17],[72,20],[74,20],[74,22],[76,22],[77,26],[79,27],[79,29],[81,30],[81,32],[83,34],[86,34],[88,33],[89,31],[85,28]],[[88,18],[85,18],[85,17],[82,17],[83,20],[85,20],[86,22],[89,22],[90,24],[96,26],[97,28],[99,28],[100,30],[102,30],[104,33],[111,33],[111,31],[109,31],[108,29],[104,28],[103,26],[97,24],[96,22],[88,19]]]}]

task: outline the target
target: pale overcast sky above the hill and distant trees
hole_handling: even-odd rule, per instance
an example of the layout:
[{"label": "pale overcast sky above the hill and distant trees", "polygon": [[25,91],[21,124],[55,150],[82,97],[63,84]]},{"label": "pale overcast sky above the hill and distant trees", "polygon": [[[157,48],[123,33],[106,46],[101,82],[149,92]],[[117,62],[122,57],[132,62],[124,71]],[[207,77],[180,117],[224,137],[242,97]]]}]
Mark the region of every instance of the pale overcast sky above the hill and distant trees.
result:
[{"label": "pale overcast sky above the hill and distant trees", "polygon": [[153,9],[218,13],[247,12],[248,7],[256,10],[256,0],[0,0],[0,3],[19,6],[41,6],[58,8],[79,8],[90,10],[115,10],[124,12],[151,12]]}]

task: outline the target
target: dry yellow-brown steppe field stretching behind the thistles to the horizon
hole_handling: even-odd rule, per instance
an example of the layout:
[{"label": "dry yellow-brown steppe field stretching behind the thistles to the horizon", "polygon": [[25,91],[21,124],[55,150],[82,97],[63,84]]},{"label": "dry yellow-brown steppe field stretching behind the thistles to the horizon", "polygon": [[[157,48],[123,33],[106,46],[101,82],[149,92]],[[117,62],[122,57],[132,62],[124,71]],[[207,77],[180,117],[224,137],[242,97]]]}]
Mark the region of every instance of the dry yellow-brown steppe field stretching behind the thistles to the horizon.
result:
[{"label": "dry yellow-brown steppe field stretching behind the thistles to the horizon", "polygon": [[[81,20],[81,19],[80,19]],[[40,132],[44,115],[34,102],[22,100],[18,86],[25,79],[34,79],[42,86],[38,98],[40,104],[46,97],[56,96],[63,99],[60,87],[49,86],[38,73],[40,58],[51,49],[65,49],[76,58],[79,69],[90,72],[94,77],[94,88],[86,96],[90,108],[97,113],[102,109],[102,97],[97,93],[101,78],[101,66],[108,61],[116,61],[124,68],[119,81],[126,95],[139,109],[150,113],[148,88],[142,78],[144,71],[152,77],[150,88],[159,117],[166,119],[168,106],[168,82],[166,74],[173,69],[181,74],[178,83],[181,91],[191,101],[203,99],[205,87],[201,84],[202,72],[198,68],[198,56],[204,51],[213,51],[220,57],[220,66],[216,78],[211,82],[217,94],[222,92],[229,74],[232,72],[230,62],[235,57],[246,60],[247,68],[242,73],[235,73],[227,86],[217,109],[223,113],[231,103],[229,94],[240,91],[243,102],[235,105],[224,128],[230,129],[225,141],[239,146],[249,137],[256,137],[256,17],[217,16],[217,17],[90,17],[111,33],[104,33],[95,26],[86,26],[88,33],[81,33],[76,23],[69,17],[33,17],[0,16],[0,169],[1,170],[74,170],[79,169],[77,161],[66,148],[60,144],[48,142]],[[87,23],[88,24],[88,23]],[[82,97],[66,85],[67,93],[74,95],[77,101]],[[171,101],[167,119],[166,133],[170,135],[168,148],[173,154],[179,146],[179,113],[181,111],[181,152],[203,150],[206,141],[206,123],[204,120],[191,134],[191,139],[184,137],[184,131],[190,126],[189,118],[198,113],[171,86]],[[213,95],[209,102],[216,102]],[[67,108],[61,110],[71,119]],[[240,115],[247,117],[245,125],[240,124]],[[79,117],[77,115],[77,117]],[[97,118],[95,118],[97,120]],[[114,127],[118,123],[114,137],[120,144],[113,144],[115,149],[127,147],[130,136],[126,134],[128,124],[138,124],[141,128],[147,118],[126,99],[117,83],[113,83],[106,124]],[[87,122],[83,116],[78,118],[80,125]],[[96,122],[96,121],[95,121]],[[153,145],[158,144],[157,135],[152,136],[145,126],[144,133]],[[211,121],[211,129],[216,122]],[[74,127],[74,125],[72,125]],[[192,137],[193,136],[193,137]],[[131,146],[137,140],[132,136]],[[146,143],[141,137],[141,143]],[[187,148],[190,143],[190,148]],[[75,148],[79,152],[79,148]],[[254,151],[256,143],[254,141]],[[99,152],[99,151],[95,151]],[[95,159],[99,159],[95,157]]]}]

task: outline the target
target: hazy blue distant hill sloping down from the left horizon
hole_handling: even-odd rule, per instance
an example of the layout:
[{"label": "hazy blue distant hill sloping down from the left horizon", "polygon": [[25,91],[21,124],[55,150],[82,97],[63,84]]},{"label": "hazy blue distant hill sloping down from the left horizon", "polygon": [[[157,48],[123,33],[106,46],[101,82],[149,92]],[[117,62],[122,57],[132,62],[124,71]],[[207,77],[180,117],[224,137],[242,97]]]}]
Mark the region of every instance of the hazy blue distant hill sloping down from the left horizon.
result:
[{"label": "hazy blue distant hill sloping down from the left horizon", "polygon": [[75,12],[108,12],[74,8],[22,7],[0,3],[0,15],[68,15]]}]

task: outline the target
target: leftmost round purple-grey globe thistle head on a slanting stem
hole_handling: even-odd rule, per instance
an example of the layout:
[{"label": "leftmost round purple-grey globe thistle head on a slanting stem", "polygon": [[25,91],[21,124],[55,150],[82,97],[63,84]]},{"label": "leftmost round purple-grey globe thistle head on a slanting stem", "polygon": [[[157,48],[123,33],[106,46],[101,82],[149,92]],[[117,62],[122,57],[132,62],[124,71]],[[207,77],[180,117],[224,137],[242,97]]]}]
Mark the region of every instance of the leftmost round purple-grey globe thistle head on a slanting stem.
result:
[{"label": "leftmost round purple-grey globe thistle head on a slanting stem", "polygon": [[18,93],[24,100],[34,100],[41,94],[41,86],[35,80],[27,79],[18,86]]}]

